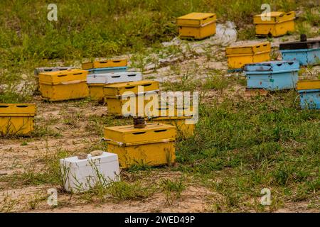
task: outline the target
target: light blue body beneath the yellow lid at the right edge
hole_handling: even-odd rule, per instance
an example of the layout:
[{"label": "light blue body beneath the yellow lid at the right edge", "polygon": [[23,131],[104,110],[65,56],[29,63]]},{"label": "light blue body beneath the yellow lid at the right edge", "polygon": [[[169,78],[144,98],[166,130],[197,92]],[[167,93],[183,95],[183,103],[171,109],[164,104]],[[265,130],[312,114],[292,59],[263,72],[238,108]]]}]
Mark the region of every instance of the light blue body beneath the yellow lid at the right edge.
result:
[{"label": "light blue body beneath the yellow lid at the right edge", "polygon": [[320,109],[320,89],[299,90],[302,109]]}]

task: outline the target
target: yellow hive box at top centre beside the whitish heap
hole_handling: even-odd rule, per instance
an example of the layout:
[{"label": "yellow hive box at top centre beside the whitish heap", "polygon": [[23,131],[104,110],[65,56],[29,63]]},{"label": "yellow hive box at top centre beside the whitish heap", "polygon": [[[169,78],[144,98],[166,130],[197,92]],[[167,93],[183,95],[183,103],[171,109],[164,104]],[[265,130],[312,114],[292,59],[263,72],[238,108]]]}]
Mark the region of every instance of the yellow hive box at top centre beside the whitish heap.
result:
[{"label": "yellow hive box at top centre beside the whitish heap", "polygon": [[180,38],[199,40],[215,34],[216,21],[215,13],[189,13],[176,19]]}]

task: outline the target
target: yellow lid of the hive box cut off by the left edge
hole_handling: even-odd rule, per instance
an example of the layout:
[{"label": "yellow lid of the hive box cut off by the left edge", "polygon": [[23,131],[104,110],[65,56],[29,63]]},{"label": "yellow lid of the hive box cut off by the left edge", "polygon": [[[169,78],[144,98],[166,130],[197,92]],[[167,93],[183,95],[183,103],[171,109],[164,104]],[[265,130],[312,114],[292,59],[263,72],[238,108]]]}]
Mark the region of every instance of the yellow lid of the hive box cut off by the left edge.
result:
[{"label": "yellow lid of the hive box cut off by the left edge", "polygon": [[0,114],[36,114],[36,104],[0,104]]}]

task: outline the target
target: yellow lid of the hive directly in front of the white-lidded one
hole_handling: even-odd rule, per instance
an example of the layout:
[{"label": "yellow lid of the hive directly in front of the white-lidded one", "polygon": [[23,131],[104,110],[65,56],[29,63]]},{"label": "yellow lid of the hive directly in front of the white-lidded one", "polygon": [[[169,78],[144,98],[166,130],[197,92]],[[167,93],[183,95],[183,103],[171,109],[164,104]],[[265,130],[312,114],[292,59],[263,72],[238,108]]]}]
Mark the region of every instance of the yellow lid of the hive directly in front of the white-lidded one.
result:
[{"label": "yellow lid of the hive directly in front of the white-lidded one", "polygon": [[137,82],[123,82],[117,84],[109,84],[103,87],[103,93],[107,97],[122,96],[124,92],[133,92],[138,94],[138,87],[143,87],[143,93],[159,90],[159,82],[154,80],[141,80]]}]

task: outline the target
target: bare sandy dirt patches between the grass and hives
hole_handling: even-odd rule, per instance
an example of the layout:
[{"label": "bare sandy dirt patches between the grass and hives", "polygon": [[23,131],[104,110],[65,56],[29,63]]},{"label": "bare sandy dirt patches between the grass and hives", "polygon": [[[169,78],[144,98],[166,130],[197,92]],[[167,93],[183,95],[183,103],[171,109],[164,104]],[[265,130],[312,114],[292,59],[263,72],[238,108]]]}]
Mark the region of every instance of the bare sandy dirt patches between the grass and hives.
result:
[{"label": "bare sandy dirt patches between the grass and hives", "polygon": [[[296,37],[288,36],[288,40]],[[318,37],[320,38],[320,37]],[[279,39],[274,39],[279,43]],[[238,44],[239,42],[235,43]],[[241,42],[243,43],[243,42]],[[274,43],[273,43],[274,45]],[[199,48],[199,47],[198,47]],[[201,47],[200,47],[201,48]],[[224,48],[212,45],[206,50],[214,57],[195,55],[184,59],[173,61],[170,65],[158,67],[144,73],[145,78],[154,77],[160,82],[178,81],[186,74],[196,74],[192,79],[203,79],[208,72],[223,70],[228,77],[232,74],[225,72],[227,62]],[[314,70],[318,69],[315,68]],[[191,73],[192,72],[192,73]],[[195,73],[196,72],[196,73]],[[225,89],[223,94],[210,92],[208,96],[242,96],[245,87],[233,84]],[[104,117],[107,114],[106,106],[100,106],[87,101],[45,103],[35,98],[38,106],[36,124],[46,128],[44,135],[36,138],[10,138],[0,139],[0,174],[21,174],[30,167],[35,172],[41,172],[43,157],[53,155],[58,150],[69,150],[73,153],[100,146],[102,137],[102,126],[95,128],[90,120],[92,117]],[[99,132],[99,130],[101,130]],[[46,132],[60,134],[59,136],[46,135]],[[145,176],[145,181],[159,180],[163,178],[176,177],[180,172],[169,172],[168,170],[152,170],[151,174]],[[0,204],[2,211],[23,212],[204,212],[215,211],[213,205],[223,201],[223,196],[211,192],[206,187],[188,182],[187,188],[182,192],[181,199],[176,199],[168,204],[163,193],[156,192],[147,199],[139,201],[114,201],[107,198],[104,203],[88,203],[80,196],[66,194],[58,191],[59,206],[54,209],[46,204],[47,189],[58,187],[57,185],[41,184],[39,186],[12,186],[10,182],[0,182]],[[252,210],[253,211],[253,210]],[[283,208],[276,212],[318,212],[310,208],[308,204],[290,203],[284,204]]]}]

